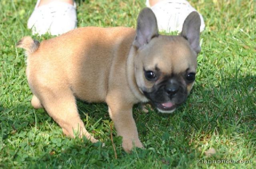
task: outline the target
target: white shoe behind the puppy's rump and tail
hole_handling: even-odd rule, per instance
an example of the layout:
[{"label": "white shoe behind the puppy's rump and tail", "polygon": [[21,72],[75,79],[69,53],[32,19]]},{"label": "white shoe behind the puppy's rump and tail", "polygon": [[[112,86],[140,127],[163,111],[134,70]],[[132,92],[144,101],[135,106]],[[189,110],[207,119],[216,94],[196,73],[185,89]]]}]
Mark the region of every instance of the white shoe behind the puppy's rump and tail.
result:
[{"label": "white shoe behind the puppy's rump and tail", "polygon": [[53,1],[49,4],[38,7],[37,1],[35,9],[28,19],[28,28],[32,29],[32,34],[42,35],[46,32],[52,35],[60,35],[77,27],[76,3],[74,5]]}]

